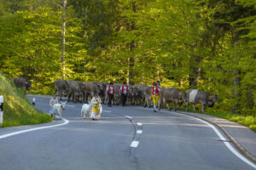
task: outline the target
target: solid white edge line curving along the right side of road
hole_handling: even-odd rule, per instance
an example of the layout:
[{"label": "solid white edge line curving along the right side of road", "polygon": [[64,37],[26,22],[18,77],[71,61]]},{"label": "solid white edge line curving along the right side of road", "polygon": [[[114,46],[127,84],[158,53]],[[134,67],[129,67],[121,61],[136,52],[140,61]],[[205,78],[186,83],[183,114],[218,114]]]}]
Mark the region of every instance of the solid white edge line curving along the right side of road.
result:
[{"label": "solid white edge line curving along the right side of road", "polygon": [[[168,113],[170,113],[170,111],[163,111],[163,112],[168,112]],[[173,112],[173,111],[172,111],[172,113],[173,113],[173,114],[176,114],[176,115],[182,115],[182,114],[175,113],[175,112]],[[189,116],[189,115],[182,115],[182,116],[188,116],[188,117],[193,118],[193,119],[195,119],[195,120],[197,120],[197,121],[206,123],[209,127],[212,127],[212,129],[213,129],[213,131],[214,131],[215,133],[217,133],[219,139],[221,139],[221,140],[226,140],[226,139],[224,138],[224,136],[223,136],[221,133],[219,133],[218,129],[217,129],[216,127],[214,127],[212,124],[210,124],[210,123],[208,123],[208,122],[205,122],[205,121],[203,121],[203,120],[201,120],[201,119],[199,119],[199,118],[193,117],[193,116]],[[224,144],[227,146],[227,148],[229,148],[229,150],[230,150],[235,156],[237,156],[238,158],[240,158],[241,161],[246,162],[248,165],[250,165],[251,167],[253,167],[254,169],[256,169],[256,165],[255,165],[252,161],[249,161],[245,156],[242,156],[238,151],[236,151],[236,150],[234,149],[234,147],[231,146],[231,144],[230,144],[229,142],[224,142]]]}]

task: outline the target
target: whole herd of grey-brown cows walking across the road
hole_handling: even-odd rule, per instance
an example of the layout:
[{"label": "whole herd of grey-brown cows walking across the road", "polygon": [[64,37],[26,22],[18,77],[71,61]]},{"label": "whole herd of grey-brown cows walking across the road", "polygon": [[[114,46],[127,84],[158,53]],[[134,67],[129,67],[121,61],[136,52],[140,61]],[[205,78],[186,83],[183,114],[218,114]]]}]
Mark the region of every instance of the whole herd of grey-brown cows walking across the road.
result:
[{"label": "whole herd of grey-brown cows walking across the road", "polygon": [[[24,89],[24,94],[26,95],[26,89],[31,88],[32,82],[27,81],[25,78],[14,78],[12,80],[18,88]],[[70,99],[73,102],[85,102],[88,103],[89,97],[92,98],[96,93],[102,99],[104,104],[108,102],[108,95],[106,95],[106,89],[108,88],[108,82],[78,82],[78,81],[65,81],[65,80],[55,80],[55,94],[59,92],[60,99],[63,95],[67,95],[67,101]],[[115,91],[113,94],[113,105],[120,104],[120,94],[119,89],[121,84],[113,84]],[[128,105],[144,105],[150,107],[150,100],[152,100],[151,90],[152,87],[147,85],[129,85],[129,95],[127,96]],[[193,104],[195,111],[196,103],[200,103],[202,107],[202,112],[205,111],[206,107],[212,107],[215,103],[218,103],[217,94],[209,94],[202,90],[189,89],[187,92],[183,92],[177,88],[161,88],[160,92],[160,106],[162,108],[163,104],[166,104],[167,108],[170,110],[169,103],[173,103],[173,110],[176,111],[183,102],[186,103],[186,108],[188,108],[189,103]],[[177,107],[175,105],[178,105]]]}]

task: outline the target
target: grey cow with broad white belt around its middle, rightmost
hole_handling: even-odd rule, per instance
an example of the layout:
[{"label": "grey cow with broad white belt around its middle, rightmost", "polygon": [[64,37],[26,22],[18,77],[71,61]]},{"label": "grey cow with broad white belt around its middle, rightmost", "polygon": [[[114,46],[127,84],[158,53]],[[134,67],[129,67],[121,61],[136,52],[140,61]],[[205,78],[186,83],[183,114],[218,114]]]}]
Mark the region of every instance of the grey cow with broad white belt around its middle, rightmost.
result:
[{"label": "grey cow with broad white belt around its middle, rightmost", "polygon": [[189,89],[186,95],[187,95],[186,111],[188,111],[189,103],[192,103],[194,111],[195,111],[195,104],[200,103],[202,108],[201,109],[202,113],[205,112],[207,105],[209,107],[212,107],[214,103],[218,104],[217,94],[209,94],[202,90]]}]

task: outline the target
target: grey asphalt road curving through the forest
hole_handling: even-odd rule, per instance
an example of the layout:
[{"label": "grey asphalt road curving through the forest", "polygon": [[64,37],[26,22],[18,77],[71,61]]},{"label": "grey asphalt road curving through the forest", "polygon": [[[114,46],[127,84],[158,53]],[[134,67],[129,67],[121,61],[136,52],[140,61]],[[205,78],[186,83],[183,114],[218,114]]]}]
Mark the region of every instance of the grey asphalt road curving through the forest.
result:
[{"label": "grey asphalt road curving through the forest", "polygon": [[[48,112],[49,98],[37,97],[36,107]],[[81,107],[67,103],[66,125],[0,139],[0,170],[253,169],[211,127],[189,116],[103,105],[102,118],[93,122],[80,119]],[[133,117],[133,124],[125,116]],[[31,126],[4,128],[0,136],[26,128]]]}]

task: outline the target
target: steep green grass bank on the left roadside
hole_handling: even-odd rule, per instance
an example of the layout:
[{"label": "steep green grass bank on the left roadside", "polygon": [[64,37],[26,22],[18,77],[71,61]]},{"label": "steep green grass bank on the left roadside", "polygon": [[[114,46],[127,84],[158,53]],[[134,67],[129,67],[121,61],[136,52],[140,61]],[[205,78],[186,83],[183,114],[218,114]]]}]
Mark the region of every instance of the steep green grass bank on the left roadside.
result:
[{"label": "steep green grass bank on the left roadside", "polygon": [[0,95],[3,95],[3,127],[51,122],[51,116],[31,105],[20,89],[0,72]]}]

